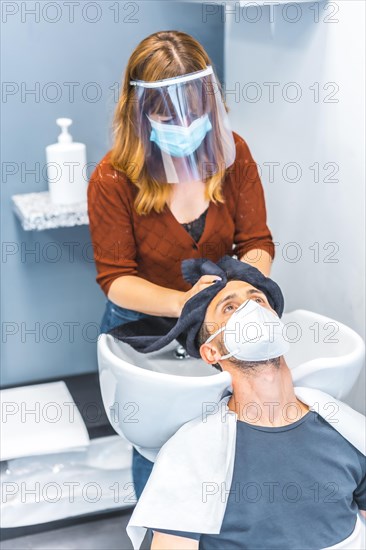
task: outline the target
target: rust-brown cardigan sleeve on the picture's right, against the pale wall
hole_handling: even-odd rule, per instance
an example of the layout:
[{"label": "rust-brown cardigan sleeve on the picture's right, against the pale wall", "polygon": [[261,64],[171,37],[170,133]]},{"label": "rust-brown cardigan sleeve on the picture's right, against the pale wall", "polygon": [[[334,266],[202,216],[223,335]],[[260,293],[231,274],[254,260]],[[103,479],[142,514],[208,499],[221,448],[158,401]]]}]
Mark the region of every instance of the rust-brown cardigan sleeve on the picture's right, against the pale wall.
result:
[{"label": "rust-brown cardigan sleeve on the picture's right, against the pale wall", "polygon": [[248,145],[239,137],[238,159],[235,162],[234,177],[238,189],[235,209],[234,254],[240,259],[254,249],[268,252],[272,258],[275,248],[272,234],[267,226],[264,192],[257,165]]}]

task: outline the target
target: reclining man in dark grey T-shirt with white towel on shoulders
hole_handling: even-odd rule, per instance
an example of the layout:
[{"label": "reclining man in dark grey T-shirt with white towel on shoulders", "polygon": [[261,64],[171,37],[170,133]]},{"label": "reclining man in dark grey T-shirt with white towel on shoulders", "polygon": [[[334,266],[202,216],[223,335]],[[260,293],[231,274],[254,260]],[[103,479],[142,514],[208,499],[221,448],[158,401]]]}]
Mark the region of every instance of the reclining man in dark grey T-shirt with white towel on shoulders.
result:
[{"label": "reclining man in dark grey T-shirt with white towel on shoulders", "polygon": [[364,548],[364,417],[293,386],[275,283],[255,276],[227,281],[196,338],[232,394],[163,446],[130,524],[152,550]]}]

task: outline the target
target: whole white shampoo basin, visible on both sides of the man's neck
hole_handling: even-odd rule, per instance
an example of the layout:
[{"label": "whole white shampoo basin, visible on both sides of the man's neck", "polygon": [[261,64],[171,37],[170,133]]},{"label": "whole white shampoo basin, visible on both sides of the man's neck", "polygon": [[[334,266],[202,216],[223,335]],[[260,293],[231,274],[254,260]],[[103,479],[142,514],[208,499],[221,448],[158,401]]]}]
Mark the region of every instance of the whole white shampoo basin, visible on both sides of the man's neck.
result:
[{"label": "whole white shampoo basin, visible on both sides of the man's neck", "polygon": [[[355,384],[365,357],[362,338],[349,327],[310,311],[282,317],[291,342],[286,361],[295,385],[318,388],[337,399]],[[118,434],[154,461],[161,446],[185,422],[216,407],[231,377],[192,357],[178,359],[177,342],[150,354],[110,334],[98,340],[104,407]]]}]

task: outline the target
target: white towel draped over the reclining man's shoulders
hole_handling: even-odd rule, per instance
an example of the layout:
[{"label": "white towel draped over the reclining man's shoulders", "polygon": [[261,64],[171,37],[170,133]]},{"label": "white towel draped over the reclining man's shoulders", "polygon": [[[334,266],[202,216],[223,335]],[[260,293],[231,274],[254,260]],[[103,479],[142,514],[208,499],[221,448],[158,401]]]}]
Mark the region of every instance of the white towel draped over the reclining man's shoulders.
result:
[{"label": "white towel draped over the reclining man's shoulders", "polygon": [[[295,386],[296,396],[345,439],[366,454],[365,417],[327,393]],[[135,550],[146,527],[218,534],[234,469],[237,415],[225,396],[212,414],[184,424],[160,449],[153,471],[127,525]],[[222,485],[224,484],[224,485]],[[353,533],[334,549],[364,549],[365,524],[358,517]],[[328,549],[324,549],[328,550]]]}]

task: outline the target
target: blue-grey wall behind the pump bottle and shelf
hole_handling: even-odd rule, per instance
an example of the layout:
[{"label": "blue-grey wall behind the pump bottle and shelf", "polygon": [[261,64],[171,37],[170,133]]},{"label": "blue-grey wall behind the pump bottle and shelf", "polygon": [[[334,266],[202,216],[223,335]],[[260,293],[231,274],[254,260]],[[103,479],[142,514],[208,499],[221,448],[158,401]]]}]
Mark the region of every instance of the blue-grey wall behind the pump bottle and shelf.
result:
[{"label": "blue-grey wall behind the pump bottle and shelf", "polygon": [[[158,30],[192,34],[223,74],[220,13],[203,22],[199,3],[120,2],[117,16],[116,2],[82,2],[73,18],[63,2],[58,12],[45,11],[43,2],[8,4],[18,11],[5,14],[2,25],[2,79],[13,89],[4,97],[2,163],[14,163],[16,173],[2,181],[2,386],[97,370],[105,297],[95,282],[88,226],[25,232],[11,208],[11,195],[48,189],[44,148],[57,139],[56,118],[73,119],[74,141],[86,144],[89,162],[98,162],[112,144],[114,90],[130,53]],[[26,11],[35,4],[38,14]],[[74,97],[70,82],[78,83]],[[101,91],[96,101],[89,83]],[[24,93],[34,89],[36,95]],[[36,163],[38,174],[22,174]]]}]

